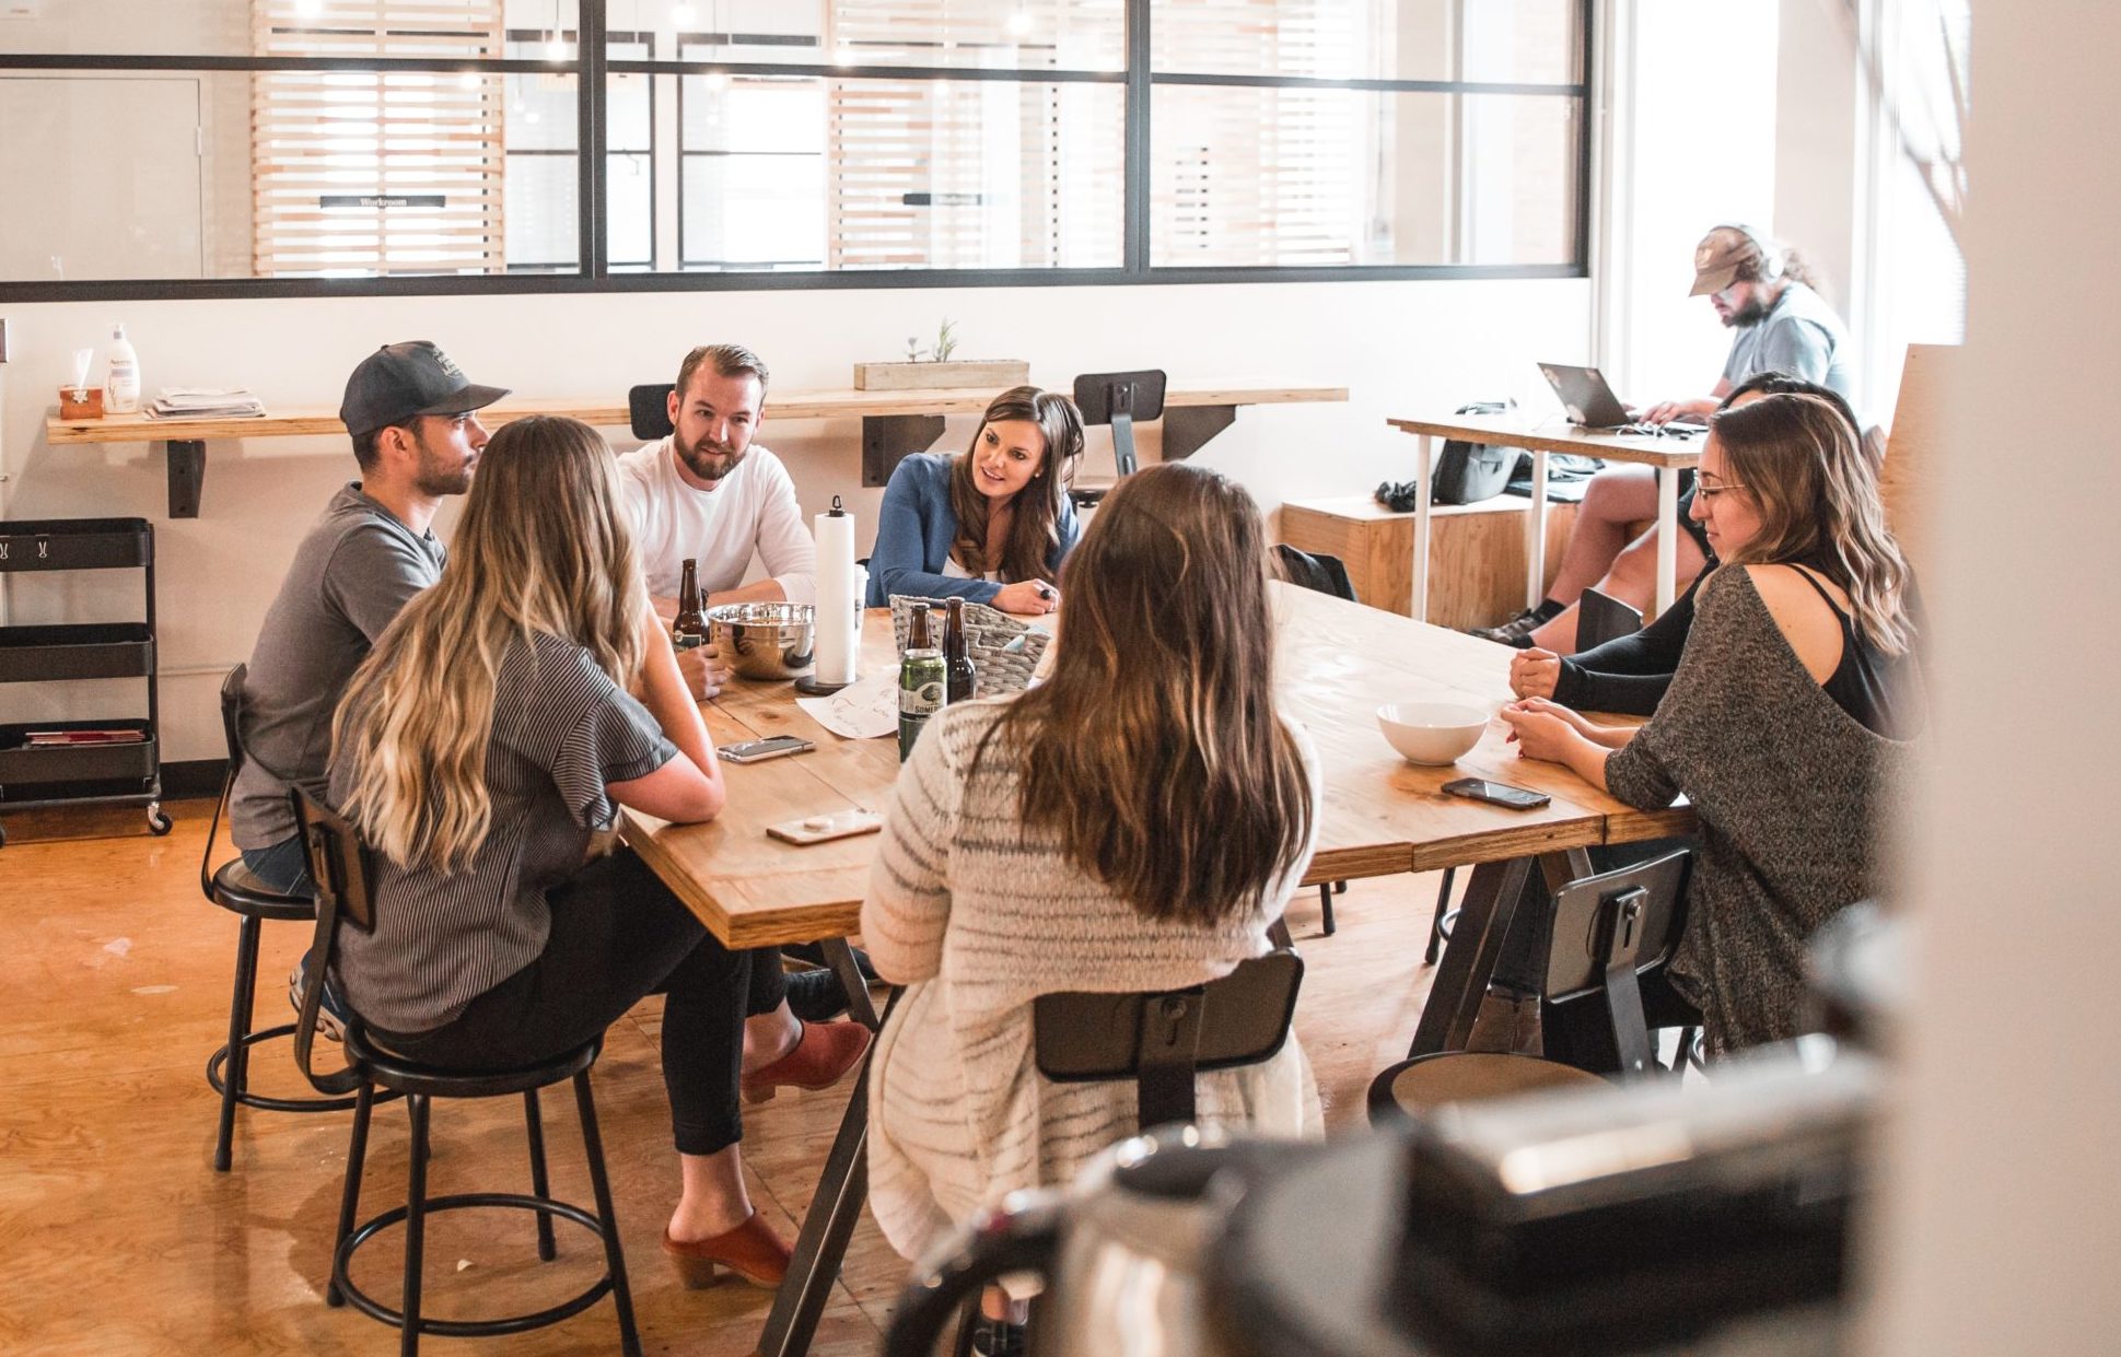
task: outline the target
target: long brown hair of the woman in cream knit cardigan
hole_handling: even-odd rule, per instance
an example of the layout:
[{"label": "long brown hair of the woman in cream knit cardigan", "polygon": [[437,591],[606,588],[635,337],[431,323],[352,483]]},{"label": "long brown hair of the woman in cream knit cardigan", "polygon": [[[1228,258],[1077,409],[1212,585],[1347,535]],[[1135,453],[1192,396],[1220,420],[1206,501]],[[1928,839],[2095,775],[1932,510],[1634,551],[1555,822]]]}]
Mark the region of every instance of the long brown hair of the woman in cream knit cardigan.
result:
[{"label": "long brown hair of the woman in cream knit cardigan", "polygon": [[1024,825],[1147,918],[1258,907],[1311,840],[1275,712],[1258,505],[1205,466],[1150,466],[1105,498],[1065,577],[1052,678],[991,732],[1024,744]]}]

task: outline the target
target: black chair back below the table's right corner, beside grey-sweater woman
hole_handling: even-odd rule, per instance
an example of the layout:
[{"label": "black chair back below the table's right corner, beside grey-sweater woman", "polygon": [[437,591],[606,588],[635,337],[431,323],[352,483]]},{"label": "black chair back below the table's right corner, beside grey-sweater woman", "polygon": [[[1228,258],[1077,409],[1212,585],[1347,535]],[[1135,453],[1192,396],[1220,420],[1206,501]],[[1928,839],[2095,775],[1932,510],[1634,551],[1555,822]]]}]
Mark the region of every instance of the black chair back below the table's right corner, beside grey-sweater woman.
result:
[{"label": "black chair back below the table's right corner, beside grey-sweater woman", "polygon": [[1637,975],[1671,961],[1680,946],[1690,863],[1693,854],[1682,848],[1574,880],[1555,893],[1546,999],[1603,990],[1623,1075],[1646,1073],[1657,1056]]}]

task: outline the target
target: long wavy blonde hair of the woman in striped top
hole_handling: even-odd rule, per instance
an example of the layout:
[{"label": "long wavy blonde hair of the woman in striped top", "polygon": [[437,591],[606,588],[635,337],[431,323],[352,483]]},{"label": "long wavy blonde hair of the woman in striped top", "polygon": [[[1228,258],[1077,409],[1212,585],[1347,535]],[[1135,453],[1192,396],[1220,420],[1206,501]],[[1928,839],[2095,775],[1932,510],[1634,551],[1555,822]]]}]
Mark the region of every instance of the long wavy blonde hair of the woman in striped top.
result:
[{"label": "long wavy blonde hair of the woman in striped top", "polygon": [[441,581],[405,604],[333,717],[333,759],[354,770],[341,810],[401,867],[469,865],[492,827],[486,746],[503,659],[558,636],[626,685],[647,606],[604,439],[558,416],[505,424]]}]

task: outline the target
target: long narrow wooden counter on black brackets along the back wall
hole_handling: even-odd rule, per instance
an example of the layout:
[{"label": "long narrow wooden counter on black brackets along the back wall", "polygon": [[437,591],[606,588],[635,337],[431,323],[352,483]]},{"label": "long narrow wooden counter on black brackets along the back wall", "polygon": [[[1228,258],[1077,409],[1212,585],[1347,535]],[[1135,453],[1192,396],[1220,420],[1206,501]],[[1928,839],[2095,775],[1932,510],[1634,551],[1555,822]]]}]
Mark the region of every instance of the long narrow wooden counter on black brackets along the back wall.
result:
[{"label": "long narrow wooden counter on black brackets along the back wall", "polygon": [[[766,411],[778,420],[861,420],[865,486],[882,486],[908,454],[942,437],[944,416],[980,413],[988,388],[935,390],[774,390]],[[1347,401],[1345,386],[1275,386],[1264,382],[1186,382],[1164,394],[1164,458],[1192,456],[1237,420],[1239,405]],[[479,411],[488,426],[528,416],[571,416],[598,428],[628,428],[624,399],[511,396]],[[250,420],[151,420],[144,413],[98,420],[45,420],[45,441],[163,443],[170,458],[170,517],[199,517],[206,483],[206,439],[293,439],[346,435],[337,405],[291,405]]]}]

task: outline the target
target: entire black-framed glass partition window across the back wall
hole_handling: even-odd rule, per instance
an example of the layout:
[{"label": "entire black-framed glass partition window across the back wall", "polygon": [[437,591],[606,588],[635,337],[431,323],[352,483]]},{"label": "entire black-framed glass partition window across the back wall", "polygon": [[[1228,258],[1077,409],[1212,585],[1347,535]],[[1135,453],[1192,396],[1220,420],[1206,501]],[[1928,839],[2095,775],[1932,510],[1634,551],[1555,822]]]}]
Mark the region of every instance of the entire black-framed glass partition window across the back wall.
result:
[{"label": "entire black-framed glass partition window across the back wall", "polygon": [[42,184],[0,199],[0,299],[121,280],[1580,274],[1587,13],[42,4],[0,23],[0,176]]}]

